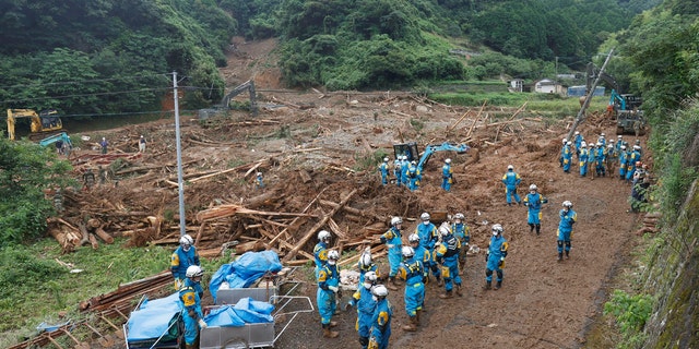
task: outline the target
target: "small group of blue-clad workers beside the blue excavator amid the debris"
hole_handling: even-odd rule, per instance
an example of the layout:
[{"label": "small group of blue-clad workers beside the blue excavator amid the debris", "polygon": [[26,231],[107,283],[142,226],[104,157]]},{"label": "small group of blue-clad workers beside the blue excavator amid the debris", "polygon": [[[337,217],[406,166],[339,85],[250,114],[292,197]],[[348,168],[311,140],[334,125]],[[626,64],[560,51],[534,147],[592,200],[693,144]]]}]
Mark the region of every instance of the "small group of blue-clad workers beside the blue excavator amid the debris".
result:
[{"label": "small group of blue-clad workers beside the blue excavator amid the debris", "polygon": [[[379,173],[381,174],[381,184],[387,185],[391,181],[391,166],[390,159],[383,158],[383,163],[379,165]],[[423,173],[417,166],[417,161],[408,161],[407,155],[399,155],[393,161],[393,177],[395,185],[405,185],[411,191],[419,189],[420,181],[423,180]],[[445,191],[451,190],[451,184],[454,182],[453,170],[451,169],[451,159],[445,159],[445,165],[441,167],[441,189]]]}]

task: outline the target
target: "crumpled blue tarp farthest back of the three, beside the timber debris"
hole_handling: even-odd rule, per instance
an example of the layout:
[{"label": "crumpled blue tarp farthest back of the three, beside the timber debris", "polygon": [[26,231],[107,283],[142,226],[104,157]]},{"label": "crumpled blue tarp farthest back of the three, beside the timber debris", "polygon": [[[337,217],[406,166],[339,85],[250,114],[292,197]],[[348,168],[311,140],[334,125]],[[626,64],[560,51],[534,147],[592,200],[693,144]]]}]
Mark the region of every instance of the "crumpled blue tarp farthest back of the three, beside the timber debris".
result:
[{"label": "crumpled blue tarp farthest back of the three, beside the timber debris", "polygon": [[223,281],[229,288],[247,288],[265,273],[282,270],[280,256],[274,251],[246,252],[236,261],[222,265],[211,277],[209,291],[216,302],[216,292]]}]

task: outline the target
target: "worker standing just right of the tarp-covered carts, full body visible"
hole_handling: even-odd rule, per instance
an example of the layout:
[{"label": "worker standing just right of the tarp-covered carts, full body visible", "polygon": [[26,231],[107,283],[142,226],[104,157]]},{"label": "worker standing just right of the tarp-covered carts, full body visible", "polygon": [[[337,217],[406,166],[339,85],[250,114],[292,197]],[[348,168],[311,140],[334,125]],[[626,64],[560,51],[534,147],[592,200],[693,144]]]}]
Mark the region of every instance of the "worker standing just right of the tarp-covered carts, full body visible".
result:
[{"label": "worker standing just right of the tarp-covered carts, full body visible", "polygon": [[316,304],[318,305],[320,324],[323,329],[323,337],[325,338],[335,338],[340,335],[336,330],[330,329],[331,327],[337,326],[337,323],[332,321],[332,315],[335,314],[335,300],[342,298],[340,273],[337,273],[336,265],[337,260],[340,260],[340,253],[337,253],[337,251],[328,251],[328,263],[318,272]]}]

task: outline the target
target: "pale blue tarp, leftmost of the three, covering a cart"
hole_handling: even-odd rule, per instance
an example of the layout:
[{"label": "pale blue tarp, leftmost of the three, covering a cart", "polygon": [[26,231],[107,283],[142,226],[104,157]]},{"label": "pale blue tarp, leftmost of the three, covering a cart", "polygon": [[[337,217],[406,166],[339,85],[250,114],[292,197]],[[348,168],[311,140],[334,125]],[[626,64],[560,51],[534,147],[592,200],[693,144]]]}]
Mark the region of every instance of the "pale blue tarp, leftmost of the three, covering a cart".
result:
[{"label": "pale blue tarp, leftmost of the three, covering a cart", "polygon": [[131,312],[128,322],[128,341],[159,338],[168,332],[173,317],[179,314],[181,301],[179,292],[166,298],[145,301],[139,310]]}]

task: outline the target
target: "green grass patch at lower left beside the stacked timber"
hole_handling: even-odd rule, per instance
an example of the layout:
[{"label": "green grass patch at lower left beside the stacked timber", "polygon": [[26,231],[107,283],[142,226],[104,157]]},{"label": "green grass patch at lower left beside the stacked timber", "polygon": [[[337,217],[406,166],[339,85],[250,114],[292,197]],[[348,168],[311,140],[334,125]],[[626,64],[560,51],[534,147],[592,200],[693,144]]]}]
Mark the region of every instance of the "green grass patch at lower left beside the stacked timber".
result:
[{"label": "green grass patch at lower left beside the stacked timber", "polygon": [[[92,297],[111,292],[119,284],[142,279],[169,268],[173,250],[162,246],[123,248],[125,239],[114,244],[100,244],[98,250],[81,248],[61,254],[54,239],[44,239],[31,246],[0,250],[0,347],[7,348],[32,337],[42,322],[56,322],[59,312],[66,318],[79,321],[90,316],[78,305]],[[81,273],[58,264],[55,258],[73,265]],[[202,261],[209,278],[224,258]]]}]

